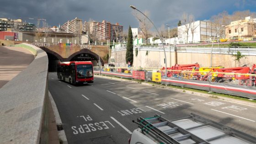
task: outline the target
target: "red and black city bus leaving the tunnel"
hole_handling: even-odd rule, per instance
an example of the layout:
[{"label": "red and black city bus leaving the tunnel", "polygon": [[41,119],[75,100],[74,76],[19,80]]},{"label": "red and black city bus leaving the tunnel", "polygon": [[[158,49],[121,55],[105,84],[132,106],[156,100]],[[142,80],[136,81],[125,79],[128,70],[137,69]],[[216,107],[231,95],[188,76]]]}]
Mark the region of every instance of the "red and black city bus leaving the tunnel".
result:
[{"label": "red and black city bus leaving the tunnel", "polygon": [[93,83],[93,66],[91,61],[59,62],[57,76],[74,85]]}]

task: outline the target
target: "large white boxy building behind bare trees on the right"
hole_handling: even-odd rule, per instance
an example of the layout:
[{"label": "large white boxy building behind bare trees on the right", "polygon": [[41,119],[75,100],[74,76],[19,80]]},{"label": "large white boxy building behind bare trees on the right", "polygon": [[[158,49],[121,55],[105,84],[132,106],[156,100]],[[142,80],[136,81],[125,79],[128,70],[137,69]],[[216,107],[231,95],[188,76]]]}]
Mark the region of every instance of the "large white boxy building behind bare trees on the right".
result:
[{"label": "large white boxy building behind bare trees on the right", "polygon": [[224,27],[210,21],[194,21],[190,23],[187,35],[185,25],[178,27],[178,43],[198,43],[200,41],[212,40],[214,36],[225,37]]}]

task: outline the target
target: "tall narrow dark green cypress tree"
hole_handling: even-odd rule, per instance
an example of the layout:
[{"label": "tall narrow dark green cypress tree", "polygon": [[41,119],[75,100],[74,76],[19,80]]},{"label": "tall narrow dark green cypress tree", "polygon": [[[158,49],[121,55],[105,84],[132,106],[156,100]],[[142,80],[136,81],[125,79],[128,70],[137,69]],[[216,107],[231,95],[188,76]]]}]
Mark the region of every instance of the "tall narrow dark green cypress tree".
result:
[{"label": "tall narrow dark green cypress tree", "polygon": [[127,47],[126,47],[126,63],[128,62],[133,65],[133,33],[132,33],[132,28],[129,26],[129,31],[128,31],[128,40],[127,40]]}]

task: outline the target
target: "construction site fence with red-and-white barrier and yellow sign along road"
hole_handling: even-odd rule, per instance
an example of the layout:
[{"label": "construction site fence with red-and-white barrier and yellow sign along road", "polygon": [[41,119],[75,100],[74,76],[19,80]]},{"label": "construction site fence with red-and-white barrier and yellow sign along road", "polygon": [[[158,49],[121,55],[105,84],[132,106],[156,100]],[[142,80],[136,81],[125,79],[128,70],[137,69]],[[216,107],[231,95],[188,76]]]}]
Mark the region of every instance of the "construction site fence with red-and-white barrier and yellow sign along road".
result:
[{"label": "construction site fence with red-and-white barrier and yellow sign along road", "polygon": [[256,99],[256,75],[152,68],[94,67],[94,74],[176,85],[209,92]]}]

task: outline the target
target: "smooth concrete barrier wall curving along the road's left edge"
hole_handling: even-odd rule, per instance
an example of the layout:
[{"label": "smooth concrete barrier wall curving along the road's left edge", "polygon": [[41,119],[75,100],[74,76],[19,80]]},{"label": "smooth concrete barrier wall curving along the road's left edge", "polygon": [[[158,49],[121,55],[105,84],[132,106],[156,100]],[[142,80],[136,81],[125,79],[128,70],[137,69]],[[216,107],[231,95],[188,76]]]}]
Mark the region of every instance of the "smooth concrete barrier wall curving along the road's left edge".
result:
[{"label": "smooth concrete barrier wall curving along the road's left edge", "polygon": [[[0,89],[0,143],[45,144],[48,141],[48,56],[40,48],[33,62]],[[15,59],[15,58],[14,58]]]}]

